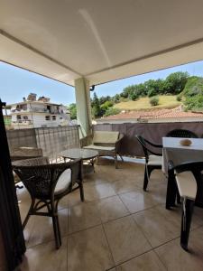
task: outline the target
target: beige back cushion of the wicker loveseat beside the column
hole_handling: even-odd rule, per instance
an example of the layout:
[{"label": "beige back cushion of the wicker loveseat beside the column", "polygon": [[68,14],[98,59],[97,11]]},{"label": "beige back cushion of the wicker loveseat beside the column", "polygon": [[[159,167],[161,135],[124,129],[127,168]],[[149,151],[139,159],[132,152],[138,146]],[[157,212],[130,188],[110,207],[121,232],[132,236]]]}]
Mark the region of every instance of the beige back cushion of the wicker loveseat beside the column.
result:
[{"label": "beige back cushion of the wicker loveseat beside the column", "polygon": [[95,131],[93,136],[93,144],[115,144],[118,139],[119,132],[115,131]]}]

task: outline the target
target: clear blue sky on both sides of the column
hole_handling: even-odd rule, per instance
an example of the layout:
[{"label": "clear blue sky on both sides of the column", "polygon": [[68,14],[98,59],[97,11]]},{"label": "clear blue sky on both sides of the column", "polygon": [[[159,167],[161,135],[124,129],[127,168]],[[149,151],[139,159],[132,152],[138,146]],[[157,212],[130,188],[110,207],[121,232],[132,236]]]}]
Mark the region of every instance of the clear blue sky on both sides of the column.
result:
[{"label": "clear blue sky on both sides of the column", "polygon": [[[149,72],[128,79],[119,79],[96,86],[98,97],[120,93],[125,87],[148,79],[165,79],[171,72],[188,71],[190,75],[203,77],[203,61],[193,62],[165,70]],[[0,98],[7,104],[23,100],[30,92],[51,98],[52,102],[69,105],[75,102],[74,88],[33,72],[0,62]],[[93,95],[93,93],[91,93]]]}]

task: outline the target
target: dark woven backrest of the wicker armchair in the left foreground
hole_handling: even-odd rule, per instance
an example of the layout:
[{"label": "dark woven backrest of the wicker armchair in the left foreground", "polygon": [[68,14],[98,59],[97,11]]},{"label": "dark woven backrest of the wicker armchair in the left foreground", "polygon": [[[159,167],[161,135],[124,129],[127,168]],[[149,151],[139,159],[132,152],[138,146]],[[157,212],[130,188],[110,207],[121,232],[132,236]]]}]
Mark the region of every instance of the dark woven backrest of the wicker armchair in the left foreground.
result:
[{"label": "dark woven backrest of the wicker armchair in the left foreground", "polygon": [[13,163],[14,173],[19,176],[31,196],[38,199],[51,198],[60,175],[67,169],[71,171],[72,187],[75,181],[82,180],[80,159],[69,163],[49,164],[47,157],[40,157]]}]

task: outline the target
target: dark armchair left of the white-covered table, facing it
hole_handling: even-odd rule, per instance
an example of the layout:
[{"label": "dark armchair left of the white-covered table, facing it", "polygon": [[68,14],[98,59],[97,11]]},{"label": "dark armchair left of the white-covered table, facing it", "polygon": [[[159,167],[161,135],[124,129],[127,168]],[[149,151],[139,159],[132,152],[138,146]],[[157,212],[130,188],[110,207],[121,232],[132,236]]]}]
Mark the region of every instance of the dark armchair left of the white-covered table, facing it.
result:
[{"label": "dark armchair left of the white-covered table, facing it", "polygon": [[153,170],[161,169],[162,154],[154,153],[147,145],[151,145],[153,148],[162,148],[162,145],[155,145],[152,142],[146,140],[141,135],[135,135],[140,145],[143,147],[143,153],[145,156],[145,171],[143,179],[143,190],[146,191],[148,182],[150,181],[150,175]]}]

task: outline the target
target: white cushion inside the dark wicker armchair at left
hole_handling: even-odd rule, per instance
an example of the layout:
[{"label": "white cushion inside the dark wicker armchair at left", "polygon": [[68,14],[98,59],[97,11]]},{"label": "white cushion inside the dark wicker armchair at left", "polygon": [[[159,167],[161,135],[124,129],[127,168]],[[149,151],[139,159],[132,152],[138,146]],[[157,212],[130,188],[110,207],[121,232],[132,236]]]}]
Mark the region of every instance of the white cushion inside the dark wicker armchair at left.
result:
[{"label": "white cushion inside the dark wicker armchair at left", "polygon": [[63,173],[60,174],[60,178],[55,187],[54,194],[58,195],[62,192],[65,192],[66,189],[69,188],[70,183],[71,183],[71,170],[67,169]]}]

